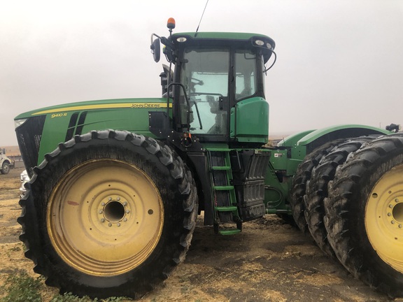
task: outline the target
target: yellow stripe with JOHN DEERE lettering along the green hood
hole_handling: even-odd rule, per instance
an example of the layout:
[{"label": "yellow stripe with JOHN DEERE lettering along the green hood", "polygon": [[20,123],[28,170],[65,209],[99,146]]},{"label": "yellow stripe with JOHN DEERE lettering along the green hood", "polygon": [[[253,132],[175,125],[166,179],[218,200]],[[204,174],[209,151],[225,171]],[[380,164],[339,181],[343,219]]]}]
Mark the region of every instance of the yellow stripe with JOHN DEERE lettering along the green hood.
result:
[{"label": "yellow stripe with JOHN DEERE lettering along the green hood", "polygon": [[[43,110],[37,113],[32,113],[32,115],[41,115],[47,113],[58,113],[62,111],[73,111],[73,110],[92,110],[92,109],[110,109],[110,108],[167,108],[167,103],[108,103],[108,104],[98,104],[98,105],[83,105],[74,107],[64,107],[50,110]],[[172,104],[169,104],[169,108],[172,108]]]}]

